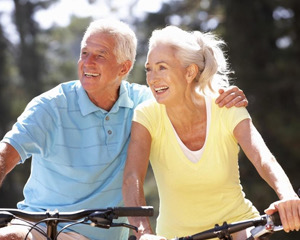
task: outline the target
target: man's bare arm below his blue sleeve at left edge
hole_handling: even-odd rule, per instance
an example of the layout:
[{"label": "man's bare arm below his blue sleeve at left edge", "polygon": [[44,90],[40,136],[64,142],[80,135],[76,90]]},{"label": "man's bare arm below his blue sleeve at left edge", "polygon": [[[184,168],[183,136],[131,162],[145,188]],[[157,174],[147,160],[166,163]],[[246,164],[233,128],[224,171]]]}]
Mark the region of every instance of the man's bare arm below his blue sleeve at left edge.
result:
[{"label": "man's bare arm below his blue sleeve at left edge", "polygon": [[5,176],[20,161],[17,150],[8,143],[0,142],[0,186]]}]

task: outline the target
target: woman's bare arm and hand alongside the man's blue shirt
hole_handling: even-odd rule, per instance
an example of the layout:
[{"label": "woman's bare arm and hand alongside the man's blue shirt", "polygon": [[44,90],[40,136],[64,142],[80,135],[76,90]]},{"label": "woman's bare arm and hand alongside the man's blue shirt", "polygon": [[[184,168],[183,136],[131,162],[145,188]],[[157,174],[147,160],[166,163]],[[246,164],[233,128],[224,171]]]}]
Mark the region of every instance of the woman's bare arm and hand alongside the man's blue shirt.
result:
[{"label": "woman's bare arm and hand alongside the man's blue shirt", "polygon": [[[140,123],[132,122],[123,179],[123,198],[127,207],[146,206],[143,187],[149,165],[150,147],[149,131]],[[129,222],[139,227],[138,239],[143,233],[153,233],[148,217],[129,218]]]}]

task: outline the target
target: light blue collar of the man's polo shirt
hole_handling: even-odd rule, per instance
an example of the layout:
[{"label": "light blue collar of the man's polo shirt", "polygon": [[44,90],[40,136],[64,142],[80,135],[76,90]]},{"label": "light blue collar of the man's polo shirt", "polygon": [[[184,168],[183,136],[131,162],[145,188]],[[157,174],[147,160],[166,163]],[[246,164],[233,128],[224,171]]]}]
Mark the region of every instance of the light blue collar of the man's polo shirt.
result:
[{"label": "light blue collar of the man's polo shirt", "polygon": [[[120,90],[119,90],[119,98],[113,105],[112,109],[109,111],[111,113],[115,113],[119,110],[120,107],[125,107],[125,108],[133,108],[134,103],[129,97],[129,92],[126,88],[126,83],[125,81],[121,82],[120,85]],[[78,95],[78,105],[80,112],[83,116],[86,116],[90,113],[101,111],[102,113],[107,113],[106,110],[97,107],[88,97],[86,91],[82,87],[80,81],[76,84],[76,92]]]}]

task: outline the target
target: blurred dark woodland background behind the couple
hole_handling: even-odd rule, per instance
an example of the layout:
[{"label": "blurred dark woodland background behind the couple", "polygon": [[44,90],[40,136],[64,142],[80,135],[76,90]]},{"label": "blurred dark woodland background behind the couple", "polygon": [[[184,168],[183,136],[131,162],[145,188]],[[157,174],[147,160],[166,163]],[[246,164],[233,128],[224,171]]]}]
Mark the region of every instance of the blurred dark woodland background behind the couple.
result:
[{"label": "blurred dark woodland background behind the couple", "polygon": [[[232,83],[245,92],[254,124],[295,190],[300,188],[299,0],[0,0],[0,138],[34,96],[77,79],[82,35],[91,20],[102,17],[123,20],[136,32],[137,61],[128,81],[141,84],[146,84],[144,62],[152,30],[172,24],[223,38],[235,71]],[[7,176],[0,207],[15,207],[23,199],[29,171],[30,160]],[[247,198],[263,213],[276,194],[243,153],[240,172]],[[157,215],[151,169],[145,192]],[[300,233],[279,233],[272,239],[298,240]]]}]

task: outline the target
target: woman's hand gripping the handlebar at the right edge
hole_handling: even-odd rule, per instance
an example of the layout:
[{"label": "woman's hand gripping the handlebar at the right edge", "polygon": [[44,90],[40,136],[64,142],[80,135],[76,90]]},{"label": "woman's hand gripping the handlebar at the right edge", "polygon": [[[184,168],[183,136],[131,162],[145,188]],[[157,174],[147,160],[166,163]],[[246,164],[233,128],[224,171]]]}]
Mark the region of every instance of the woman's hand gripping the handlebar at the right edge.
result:
[{"label": "woman's hand gripping the handlebar at the right edge", "polygon": [[280,220],[285,232],[300,229],[300,199],[283,199],[272,203],[265,213],[268,215],[279,212]]}]

